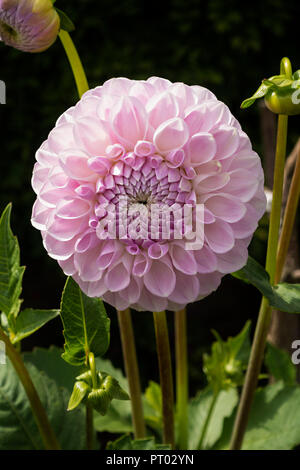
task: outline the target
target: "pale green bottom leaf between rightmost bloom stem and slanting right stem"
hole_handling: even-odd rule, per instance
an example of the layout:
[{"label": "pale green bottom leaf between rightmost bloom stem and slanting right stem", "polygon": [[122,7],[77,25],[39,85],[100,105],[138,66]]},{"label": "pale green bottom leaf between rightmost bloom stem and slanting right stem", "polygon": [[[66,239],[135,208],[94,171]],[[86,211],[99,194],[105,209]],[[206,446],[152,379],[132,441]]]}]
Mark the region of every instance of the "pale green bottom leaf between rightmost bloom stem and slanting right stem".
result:
[{"label": "pale green bottom leaf between rightmost bloom stem and slanting right stem", "polygon": [[[202,429],[207,418],[213,392],[206,388],[190,401],[189,404],[189,449],[197,449]],[[230,416],[238,402],[238,393],[235,389],[222,390],[217,398],[211,419],[206,431],[203,448],[211,448],[220,438],[224,419]]]}]

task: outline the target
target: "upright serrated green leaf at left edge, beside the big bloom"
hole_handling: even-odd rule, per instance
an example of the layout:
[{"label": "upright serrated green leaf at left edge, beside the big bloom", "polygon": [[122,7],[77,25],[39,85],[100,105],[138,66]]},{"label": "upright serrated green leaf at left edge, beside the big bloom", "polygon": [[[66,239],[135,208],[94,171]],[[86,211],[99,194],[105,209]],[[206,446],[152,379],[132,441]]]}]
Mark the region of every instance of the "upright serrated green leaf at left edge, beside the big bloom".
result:
[{"label": "upright serrated green leaf at left edge, beside the big bloom", "polygon": [[4,209],[0,219],[0,310],[10,322],[16,317],[21,301],[22,278],[25,267],[20,266],[20,249],[10,228],[11,204]]}]

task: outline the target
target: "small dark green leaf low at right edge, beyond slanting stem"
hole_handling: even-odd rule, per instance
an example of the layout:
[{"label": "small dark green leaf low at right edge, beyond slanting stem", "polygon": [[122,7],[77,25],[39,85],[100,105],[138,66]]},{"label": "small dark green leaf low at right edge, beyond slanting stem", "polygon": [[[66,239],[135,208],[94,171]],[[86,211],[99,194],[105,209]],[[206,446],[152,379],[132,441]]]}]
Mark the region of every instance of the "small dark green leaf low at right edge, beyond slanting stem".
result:
[{"label": "small dark green leaf low at right edge, beyond slanting stem", "polygon": [[286,351],[268,343],[265,364],[276,380],[282,380],[286,385],[296,384],[297,369]]}]

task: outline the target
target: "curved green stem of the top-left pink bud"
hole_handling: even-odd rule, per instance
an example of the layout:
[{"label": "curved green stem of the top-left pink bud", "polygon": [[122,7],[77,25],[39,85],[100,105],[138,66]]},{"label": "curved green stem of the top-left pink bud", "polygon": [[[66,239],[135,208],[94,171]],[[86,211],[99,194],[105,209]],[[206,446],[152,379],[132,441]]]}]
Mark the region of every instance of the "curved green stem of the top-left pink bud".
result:
[{"label": "curved green stem of the top-left pink bud", "polygon": [[78,55],[78,52],[74,46],[74,43],[71,39],[71,36],[67,31],[63,29],[59,32],[59,38],[62,42],[62,45],[65,49],[67,57],[70,62],[70,66],[74,75],[74,79],[76,82],[79,98],[89,89],[89,85],[86,79],[86,75]]}]

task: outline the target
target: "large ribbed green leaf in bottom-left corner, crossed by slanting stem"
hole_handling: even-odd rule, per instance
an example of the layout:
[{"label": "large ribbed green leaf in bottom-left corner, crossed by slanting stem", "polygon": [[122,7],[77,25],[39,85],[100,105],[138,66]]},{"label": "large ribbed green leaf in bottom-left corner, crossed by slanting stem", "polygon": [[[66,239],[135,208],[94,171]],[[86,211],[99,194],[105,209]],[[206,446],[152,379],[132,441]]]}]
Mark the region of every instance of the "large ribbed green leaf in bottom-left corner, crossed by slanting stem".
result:
[{"label": "large ribbed green leaf in bottom-left corner, crossed by slanting stem", "polygon": [[[62,449],[84,449],[83,410],[68,413],[69,393],[32,364],[26,365]],[[0,416],[0,450],[43,449],[27,395],[9,360],[0,366]]]}]

